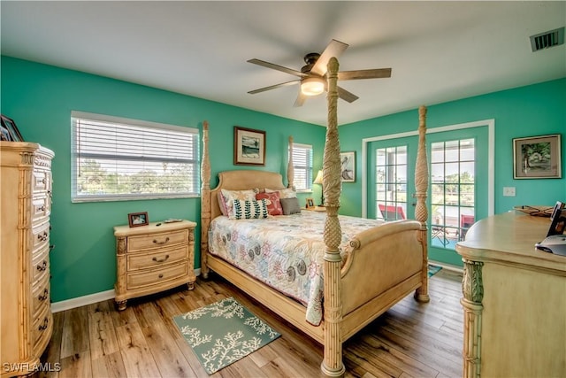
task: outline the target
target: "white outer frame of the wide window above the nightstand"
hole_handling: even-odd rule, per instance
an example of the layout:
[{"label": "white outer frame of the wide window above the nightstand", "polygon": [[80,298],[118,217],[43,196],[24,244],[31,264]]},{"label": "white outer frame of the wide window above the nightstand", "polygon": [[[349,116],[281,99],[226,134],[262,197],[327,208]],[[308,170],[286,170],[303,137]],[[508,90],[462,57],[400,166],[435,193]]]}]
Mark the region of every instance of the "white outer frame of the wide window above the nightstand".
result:
[{"label": "white outer frame of the wide window above the nightstand", "polygon": [[[91,120],[95,122],[113,123],[117,125],[125,125],[129,127],[143,127],[149,129],[170,130],[192,135],[192,156],[187,154],[187,164],[193,165],[193,182],[195,182],[193,190],[185,193],[126,193],[126,194],[109,194],[109,195],[79,195],[77,170],[79,169],[78,159],[80,151],[78,150],[77,120]],[[181,127],[176,125],[151,122],[146,120],[134,120],[123,117],[114,117],[109,115],[90,113],[90,112],[71,112],[71,202],[109,202],[109,201],[134,201],[148,199],[167,199],[167,198],[192,198],[200,197],[200,131],[195,127]],[[84,155],[83,155],[84,156]],[[110,156],[111,157],[111,156]],[[150,159],[133,158],[138,161],[149,161]],[[165,161],[165,160],[164,160]]]}]

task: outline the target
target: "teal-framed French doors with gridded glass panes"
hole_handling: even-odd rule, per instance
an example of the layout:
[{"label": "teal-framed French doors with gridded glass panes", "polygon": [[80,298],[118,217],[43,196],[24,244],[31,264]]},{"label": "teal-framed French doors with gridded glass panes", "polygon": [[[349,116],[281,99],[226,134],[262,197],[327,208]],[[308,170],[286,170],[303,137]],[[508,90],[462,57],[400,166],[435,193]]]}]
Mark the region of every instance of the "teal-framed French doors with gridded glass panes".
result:
[{"label": "teal-framed French doors with gridded glass panes", "polygon": [[[429,258],[462,266],[455,243],[488,214],[488,127],[426,135]],[[417,136],[368,143],[369,218],[414,219]]]}]

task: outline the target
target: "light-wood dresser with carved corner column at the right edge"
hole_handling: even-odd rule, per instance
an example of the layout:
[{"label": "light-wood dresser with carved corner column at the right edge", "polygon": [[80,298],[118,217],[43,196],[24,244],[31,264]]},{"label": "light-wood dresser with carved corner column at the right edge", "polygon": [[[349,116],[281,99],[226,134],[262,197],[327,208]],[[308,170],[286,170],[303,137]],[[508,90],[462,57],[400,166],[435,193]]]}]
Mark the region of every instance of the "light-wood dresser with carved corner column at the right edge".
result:
[{"label": "light-wood dresser with carved corner column at the right edge", "polygon": [[550,220],[474,224],[463,257],[463,377],[566,377],[566,256],[536,251]]}]

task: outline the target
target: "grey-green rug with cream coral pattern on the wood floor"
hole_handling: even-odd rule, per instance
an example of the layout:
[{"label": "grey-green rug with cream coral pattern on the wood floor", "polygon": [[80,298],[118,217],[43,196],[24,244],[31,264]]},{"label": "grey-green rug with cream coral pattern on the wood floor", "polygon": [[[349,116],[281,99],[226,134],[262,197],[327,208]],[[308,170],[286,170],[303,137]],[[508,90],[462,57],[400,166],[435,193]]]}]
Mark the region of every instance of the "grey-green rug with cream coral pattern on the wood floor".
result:
[{"label": "grey-green rug with cream coral pattern on the wood floor", "polygon": [[208,374],[280,336],[233,297],[175,316],[173,320]]}]

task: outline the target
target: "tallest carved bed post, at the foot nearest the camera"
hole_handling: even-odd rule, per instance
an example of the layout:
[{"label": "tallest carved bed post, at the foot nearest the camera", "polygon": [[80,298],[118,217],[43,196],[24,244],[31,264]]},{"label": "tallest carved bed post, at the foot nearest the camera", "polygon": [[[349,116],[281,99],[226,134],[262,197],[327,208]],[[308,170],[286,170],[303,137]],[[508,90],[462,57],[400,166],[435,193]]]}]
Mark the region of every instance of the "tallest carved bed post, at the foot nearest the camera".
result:
[{"label": "tallest carved bed post, at the foot nearest the camera", "polygon": [[338,220],[340,208],[340,141],[338,139],[338,60],[328,62],[328,126],[326,127],[325,157],[323,162],[323,187],[325,191],[325,355],[320,366],[329,376],[344,374],[342,363],[342,320],[340,241],[342,231]]}]

